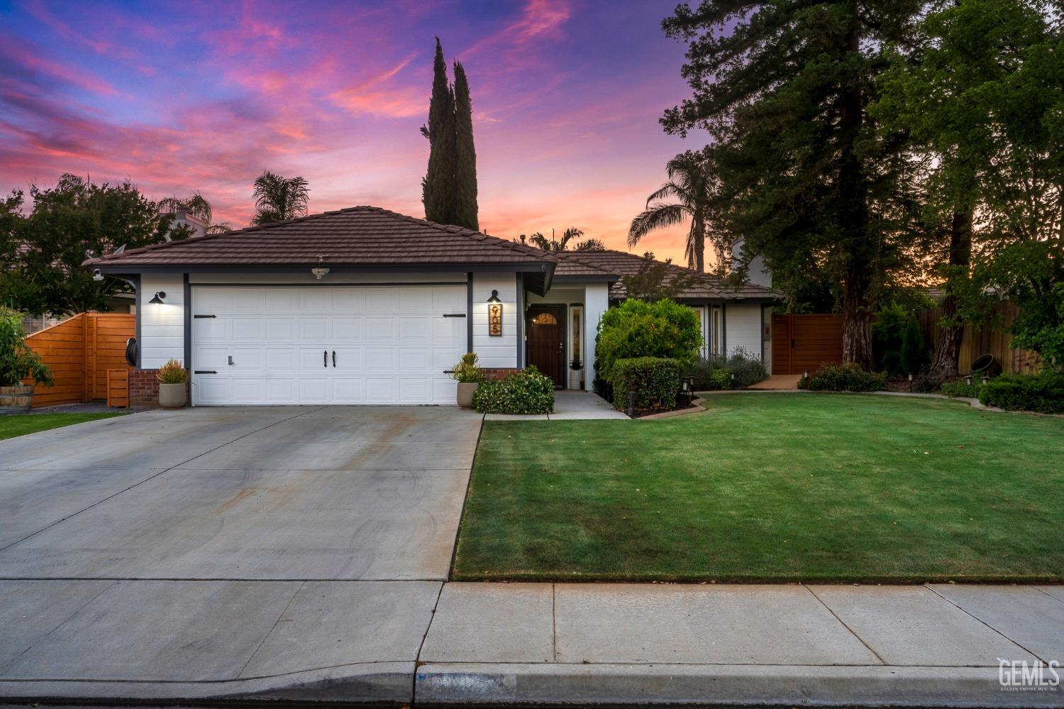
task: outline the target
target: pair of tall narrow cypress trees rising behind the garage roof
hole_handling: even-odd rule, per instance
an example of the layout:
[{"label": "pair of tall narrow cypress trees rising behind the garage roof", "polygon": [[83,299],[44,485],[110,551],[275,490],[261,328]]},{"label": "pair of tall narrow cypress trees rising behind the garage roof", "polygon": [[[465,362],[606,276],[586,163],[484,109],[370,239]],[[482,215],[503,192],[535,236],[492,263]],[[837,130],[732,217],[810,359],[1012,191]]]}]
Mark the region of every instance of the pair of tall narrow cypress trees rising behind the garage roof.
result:
[{"label": "pair of tall narrow cypress trees rising behind the garage roof", "polygon": [[444,50],[436,37],[429,122],[429,168],[421,179],[425,218],[479,230],[477,150],[472,139],[472,100],[465,68],[454,63],[454,85],[447,80]]}]

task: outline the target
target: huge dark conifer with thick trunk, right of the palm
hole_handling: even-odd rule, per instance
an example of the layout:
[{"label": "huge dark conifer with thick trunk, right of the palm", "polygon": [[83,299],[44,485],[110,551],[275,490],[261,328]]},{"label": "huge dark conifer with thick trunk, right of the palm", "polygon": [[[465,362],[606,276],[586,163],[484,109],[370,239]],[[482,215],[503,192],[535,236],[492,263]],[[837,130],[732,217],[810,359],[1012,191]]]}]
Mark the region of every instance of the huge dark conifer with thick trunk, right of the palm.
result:
[{"label": "huge dark conifer with thick trunk, right of the palm", "polygon": [[743,235],[779,283],[818,271],[841,284],[843,356],[871,364],[877,286],[909,237],[905,162],[867,106],[884,43],[903,36],[918,0],[702,0],[664,20],[687,43],[694,96],[665,129],[708,130],[720,188],[720,238]]}]

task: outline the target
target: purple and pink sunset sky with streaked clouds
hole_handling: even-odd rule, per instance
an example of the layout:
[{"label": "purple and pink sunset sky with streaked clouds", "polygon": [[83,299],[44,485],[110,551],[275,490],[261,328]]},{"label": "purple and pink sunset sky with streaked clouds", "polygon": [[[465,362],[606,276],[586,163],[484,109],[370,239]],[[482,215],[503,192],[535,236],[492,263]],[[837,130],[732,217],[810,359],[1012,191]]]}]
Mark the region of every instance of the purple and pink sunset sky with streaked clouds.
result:
[{"label": "purple and pink sunset sky with streaked clouds", "polygon": [[[423,216],[435,35],[469,76],[481,229],[628,224],[686,141],[658,118],[688,95],[676,0],[50,2],[0,0],[0,189],[62,172],[199,189],[246,226],[264,169],[310,181],[311,212]],[[683,261],[683,230],[636,251]]]}]

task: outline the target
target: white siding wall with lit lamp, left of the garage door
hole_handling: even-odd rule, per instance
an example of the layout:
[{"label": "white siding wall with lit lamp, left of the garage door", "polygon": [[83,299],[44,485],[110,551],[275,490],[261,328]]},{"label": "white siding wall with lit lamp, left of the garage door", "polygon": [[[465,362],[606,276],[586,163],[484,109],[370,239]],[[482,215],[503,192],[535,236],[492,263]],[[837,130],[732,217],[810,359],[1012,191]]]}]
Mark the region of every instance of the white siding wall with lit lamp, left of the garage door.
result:
[{"label": "white siding wall with lit lamp, left of the garage door", "polygon": [[[160,291],[162,306],[148,302]],[[157,369],[167,360],[185,363],[185,285],[181,274],[144,274],[137,293],[140,317],[140,367]]]}]

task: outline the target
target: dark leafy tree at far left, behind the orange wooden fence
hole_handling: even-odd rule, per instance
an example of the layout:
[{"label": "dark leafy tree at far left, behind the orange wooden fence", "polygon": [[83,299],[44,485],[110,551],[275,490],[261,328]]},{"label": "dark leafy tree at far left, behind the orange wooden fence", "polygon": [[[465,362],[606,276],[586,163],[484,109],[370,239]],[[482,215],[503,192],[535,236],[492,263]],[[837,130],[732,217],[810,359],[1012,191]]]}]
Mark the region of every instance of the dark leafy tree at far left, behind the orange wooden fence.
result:
[{"label": "dark leafy tree at far left, behind the orange wooden fence", "polygon": [[93,280],[86,258],[184,238],[171,214],[145,198],[129,182],[97,184],[64,175],[54,187],[30,187],[33,211],[22,216],[21,195],[0,210],[4,263],[0,300],[33,315],[67,315],[103,310],[129,284],[115,278]]}]

